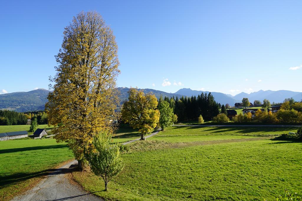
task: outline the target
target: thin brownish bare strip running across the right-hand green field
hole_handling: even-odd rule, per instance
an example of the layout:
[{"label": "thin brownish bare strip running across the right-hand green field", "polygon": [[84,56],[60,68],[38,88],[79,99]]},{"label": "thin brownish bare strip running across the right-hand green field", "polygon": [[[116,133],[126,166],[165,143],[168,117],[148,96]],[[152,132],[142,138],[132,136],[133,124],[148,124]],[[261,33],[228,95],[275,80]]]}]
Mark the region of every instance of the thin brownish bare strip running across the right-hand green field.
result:
[{"label": "thin brownish bare strip running across the right-hand green field", "polygon": [[271,137],[252,137],[252,138],[240,138],[240,139],[229,139],[229,140],[212,140],[212,141],[199,141],[199,142],[188,142],[188,143],[174,143],[172,146],[170,146],[170,148],[182,148],[185,146],[246,142],[246,141],[264,140],[264,139],[271,139]]}]

